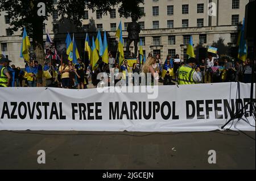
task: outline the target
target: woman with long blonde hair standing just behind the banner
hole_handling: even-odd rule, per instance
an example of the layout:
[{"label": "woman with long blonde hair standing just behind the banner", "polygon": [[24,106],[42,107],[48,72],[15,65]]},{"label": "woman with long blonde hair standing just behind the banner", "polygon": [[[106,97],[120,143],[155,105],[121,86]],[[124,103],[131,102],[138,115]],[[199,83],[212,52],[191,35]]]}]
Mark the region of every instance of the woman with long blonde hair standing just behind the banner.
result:
[{"label": "woman with long blonde hair standing just behind the banner", "polygon": [[158,80],[159,78],[158,76],[159,71],[155,71],[155,69],[152,66],[154,62],[155,62],[154,57],[148,57],[142,68],[142,72],[146,74],[145,75],[146,78],[147,78],[147,73],[151,73],[151,85],[154,85],[154,79]]}]

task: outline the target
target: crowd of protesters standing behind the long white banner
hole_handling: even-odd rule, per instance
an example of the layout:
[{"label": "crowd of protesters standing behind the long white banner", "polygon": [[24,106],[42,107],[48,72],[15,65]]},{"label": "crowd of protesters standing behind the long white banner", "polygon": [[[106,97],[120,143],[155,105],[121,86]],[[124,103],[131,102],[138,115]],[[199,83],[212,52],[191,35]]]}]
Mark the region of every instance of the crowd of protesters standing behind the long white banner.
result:
[{"label": "crowd of protesters standing behind the long white banner", "polygon": [[[44,64],[40,65],[38,61],[31,60],[26,62],[25,69],[20,69],[11,65],[10,60],[1,58],[0,86],[42,87],[45,85],[46,87],[65,89],[86,89],[89,82],[92,82],[94,87],[98,85],[101,81],[97,77],[98,73],[108,75],[113,73],[115,77],[122,73],[122,76],[116,78],[114,83],[123,79],[126,85],[128,85],[129,73],[151,73],[152,80],[155,79],[163,85],[175,85],[178,82],[179,75],[177,74],[180,67],[189,64],[189,62],[181,61],[178,54],[175,57],[168,55],[166,60],[162,61],[159,55],[153,57],[151,53],[148,54],[146,62],[141,64],[137,58],[137,63],[134,63],[133,66],[129,66],[125,60],[119,67],[112,53],[109,53],[109,64],[99,61],[94,70],[90,64],[85,65],[81,59],[77,61],[77,64],[73,65],[68,60],[56,61],[46,58]],[[195,70],[198,77],[196,83],[251,82],[252,67],[249,59],[234,61],[230,57],[219,57],[217,54],[213,56],[212,53],[208,52],[205,60],[190,63],[189,68]],[[139,85],[139,83],[141,83],[141,79],[139,81],[133,79],[133,85]]]}]

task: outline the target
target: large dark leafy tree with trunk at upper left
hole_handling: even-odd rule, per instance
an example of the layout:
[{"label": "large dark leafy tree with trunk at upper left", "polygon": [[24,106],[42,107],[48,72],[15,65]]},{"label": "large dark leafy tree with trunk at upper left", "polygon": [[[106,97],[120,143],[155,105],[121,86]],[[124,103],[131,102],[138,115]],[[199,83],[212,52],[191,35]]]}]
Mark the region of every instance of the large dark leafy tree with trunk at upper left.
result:
[{"label": "large dark leafy tree with trunk at upper left", "polygon": [[[46,16],[38,16],[40,8],[38,3],[40,2],[46,5]],[[61,20],[67,18],[77,27],[81,27],[85,9],[100,10],[102,14],[107,14],[114,6],[119,5],[118,12],[121,17],[128,18],[134,14],[141,18],[144,13],[139,9],[139,3],[143,2],[143,0],[58,0],[57,10]],[[11,33],[26,27],[28,36],[32,38],[36,57],[41,64],[45,57],[43,49],[44,21],[48,19],[55,8],[53,1],[49,0],[0,0],[0,12],[5,11],[11,20]]]}]

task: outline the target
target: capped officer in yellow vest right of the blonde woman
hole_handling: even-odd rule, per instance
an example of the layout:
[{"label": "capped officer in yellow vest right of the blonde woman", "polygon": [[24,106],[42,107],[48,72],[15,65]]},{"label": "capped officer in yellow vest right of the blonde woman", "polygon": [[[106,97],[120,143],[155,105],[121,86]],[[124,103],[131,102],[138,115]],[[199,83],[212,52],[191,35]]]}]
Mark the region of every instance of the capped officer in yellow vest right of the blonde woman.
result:
[{"label": "capped officer in yellow vest right of the blonde woman", "polygon": [[187,60],[187,64],[181,66],[177,70],[179,85],[188,85],[201,82],[202,77],[200,75],[200,68],[197,68],[196,70],[193,69],[195,65],[196,59],[191,57]]}]

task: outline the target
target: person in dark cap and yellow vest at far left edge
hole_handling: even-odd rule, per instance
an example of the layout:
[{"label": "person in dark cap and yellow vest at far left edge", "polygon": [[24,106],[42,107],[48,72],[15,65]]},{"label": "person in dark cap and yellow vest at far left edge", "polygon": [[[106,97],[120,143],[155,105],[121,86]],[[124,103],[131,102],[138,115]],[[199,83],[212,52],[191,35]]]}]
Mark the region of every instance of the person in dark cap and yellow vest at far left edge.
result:
[{"label": "person in dark cap and yellow vest at far left edge", "polygon": [[0,87],[10,86],[11,75],[7,69],[9,62],[7,58],[0,59]]}]

